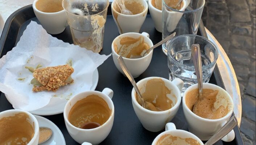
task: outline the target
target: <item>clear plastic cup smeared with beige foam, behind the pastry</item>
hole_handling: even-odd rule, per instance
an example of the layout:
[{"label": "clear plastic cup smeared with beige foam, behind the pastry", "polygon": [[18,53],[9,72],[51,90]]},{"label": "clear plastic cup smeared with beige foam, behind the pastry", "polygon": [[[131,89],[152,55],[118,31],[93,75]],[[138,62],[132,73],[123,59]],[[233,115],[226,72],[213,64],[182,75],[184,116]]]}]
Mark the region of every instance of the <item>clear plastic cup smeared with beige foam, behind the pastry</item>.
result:
[{"label": "clear plastic cup smeared with beige foam, behind the pastry", "polygon": [[108,0],[62,1],[75,45],[95,53],[102,50],[108,5]]}]

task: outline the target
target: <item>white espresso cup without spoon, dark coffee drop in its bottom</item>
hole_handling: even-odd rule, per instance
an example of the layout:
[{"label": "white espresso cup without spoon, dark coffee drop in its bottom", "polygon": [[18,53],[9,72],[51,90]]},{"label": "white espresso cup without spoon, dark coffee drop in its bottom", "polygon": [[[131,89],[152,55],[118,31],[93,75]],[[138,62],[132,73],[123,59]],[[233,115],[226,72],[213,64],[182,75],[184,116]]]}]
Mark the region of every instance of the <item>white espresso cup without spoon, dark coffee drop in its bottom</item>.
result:
[{"label": "white espresso cup without spoon, dark coffee drop in its bottom", "polygon": [[86,91],[75,95],[64,108],[70,136],[83,145],[97,145],[108,136],[114,121],[113,91]]}]

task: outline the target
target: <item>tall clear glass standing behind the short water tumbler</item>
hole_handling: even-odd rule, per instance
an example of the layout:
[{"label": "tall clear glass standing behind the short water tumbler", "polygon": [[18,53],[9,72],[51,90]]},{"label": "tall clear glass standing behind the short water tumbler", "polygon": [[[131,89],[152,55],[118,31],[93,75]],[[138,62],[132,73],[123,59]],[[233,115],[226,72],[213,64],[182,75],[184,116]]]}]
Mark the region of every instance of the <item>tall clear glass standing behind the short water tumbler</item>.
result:
[{"label": "tall clear glass standing behind the short water tumbler", "polygon": [[[176,32],[176,36],[197,34],[205,0],[182,0],[178,10],[172,8],[170,1],[162,0],[162,39],[173,32]],[[162,45],[162,49],[167,55],[166,43]]]}]

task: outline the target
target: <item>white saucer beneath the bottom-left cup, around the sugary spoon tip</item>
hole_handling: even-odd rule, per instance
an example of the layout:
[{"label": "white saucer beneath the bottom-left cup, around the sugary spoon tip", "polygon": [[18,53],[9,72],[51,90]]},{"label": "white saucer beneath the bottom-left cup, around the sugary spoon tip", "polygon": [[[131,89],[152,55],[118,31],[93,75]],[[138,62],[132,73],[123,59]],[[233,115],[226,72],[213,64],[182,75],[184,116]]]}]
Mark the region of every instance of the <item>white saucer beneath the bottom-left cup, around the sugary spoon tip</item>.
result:
[{"label": "white saucer beneath the bottom-left cup, around the sugary spoon tip", "polygon": [[53,122],[41,116],[34,116],[38,121],[39,127],[48,127],[53,130],[53,135],[51,138],[40,145],[66,145],[66,141],[61,130],[59,130],[59,128]]}]

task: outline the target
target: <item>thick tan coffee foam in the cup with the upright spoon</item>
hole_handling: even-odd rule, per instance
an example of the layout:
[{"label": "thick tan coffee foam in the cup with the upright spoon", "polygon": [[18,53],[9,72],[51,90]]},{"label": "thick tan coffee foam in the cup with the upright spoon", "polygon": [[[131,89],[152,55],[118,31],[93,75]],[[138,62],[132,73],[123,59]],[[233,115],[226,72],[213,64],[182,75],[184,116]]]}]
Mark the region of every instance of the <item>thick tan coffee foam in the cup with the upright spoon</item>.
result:
[{"label": "thick tan coffee foam in the cup with the upright spoon", "polygon": [[[186,105],[193,111],[198,100],[198,89],[191,90],[186,94]],[[205,119],[220,119],[232,109],[232,104],[222,90],[203,89],[202,99],[195,105],[194,113]]]}]

